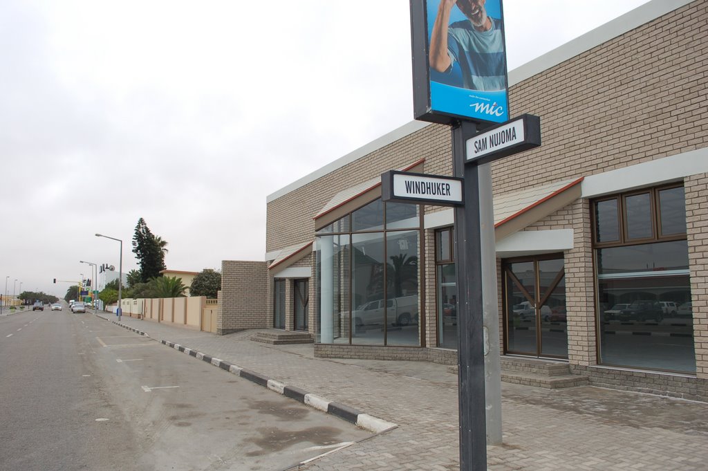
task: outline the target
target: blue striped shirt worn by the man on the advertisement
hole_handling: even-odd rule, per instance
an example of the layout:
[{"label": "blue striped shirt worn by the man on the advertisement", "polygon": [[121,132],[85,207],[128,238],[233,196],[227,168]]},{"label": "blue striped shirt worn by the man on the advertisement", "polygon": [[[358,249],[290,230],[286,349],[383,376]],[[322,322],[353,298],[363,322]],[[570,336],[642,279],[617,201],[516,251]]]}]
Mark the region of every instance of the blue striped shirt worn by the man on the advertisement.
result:
[{"label": "blue striped shirt worn by the man on the advertisement", "polygon": [[447,54],[462,69],[465,89],[506,89],[502,23],[489,19],[492,27],[488,31],[475,30],[469,20],[452,23],[448,29]]}]

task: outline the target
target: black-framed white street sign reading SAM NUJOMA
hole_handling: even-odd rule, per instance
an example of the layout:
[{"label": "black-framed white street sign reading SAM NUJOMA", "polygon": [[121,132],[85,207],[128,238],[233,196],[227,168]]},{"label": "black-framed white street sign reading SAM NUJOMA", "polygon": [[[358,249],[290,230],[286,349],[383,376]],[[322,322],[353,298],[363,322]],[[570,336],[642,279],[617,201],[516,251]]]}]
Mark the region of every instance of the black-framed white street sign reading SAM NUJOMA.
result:
[{"label": "black-framed white street sign reading SAM NUJOMA", "polygon": [[541,145],[541,118],[521,115],[467,140],[467,164],[488,164]]}]

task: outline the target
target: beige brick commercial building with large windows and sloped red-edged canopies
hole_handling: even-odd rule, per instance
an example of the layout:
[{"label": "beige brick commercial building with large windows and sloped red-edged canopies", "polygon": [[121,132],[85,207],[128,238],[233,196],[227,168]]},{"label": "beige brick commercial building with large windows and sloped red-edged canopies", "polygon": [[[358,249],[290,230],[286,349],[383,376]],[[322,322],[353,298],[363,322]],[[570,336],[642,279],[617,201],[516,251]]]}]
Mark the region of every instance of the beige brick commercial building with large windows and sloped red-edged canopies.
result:
[{"label": "beige brick commercial building with large windows and sloped red-edged canopies", "polygon": [[[542,147],[491,166],[506,359],[708,400],[708,0],[653,0],[509,72]],[[268,197],[264,262],[224,261],[219,332],[315,354],[457,361],[452,210],[382,203],[391,169],[452,175],[412,122]]]}]

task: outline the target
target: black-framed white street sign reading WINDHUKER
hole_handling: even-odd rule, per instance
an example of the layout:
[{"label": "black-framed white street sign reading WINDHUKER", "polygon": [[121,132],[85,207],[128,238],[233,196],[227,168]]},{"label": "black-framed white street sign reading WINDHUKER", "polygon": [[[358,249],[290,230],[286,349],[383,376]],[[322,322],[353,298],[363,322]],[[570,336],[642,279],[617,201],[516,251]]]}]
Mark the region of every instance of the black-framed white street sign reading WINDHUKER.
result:
[{"label": "black-framed white street sign reading WINDHUKER", "polygon": [[464,202],[462,178],[391,170],[381,176],[384,201],[457,206]]}]

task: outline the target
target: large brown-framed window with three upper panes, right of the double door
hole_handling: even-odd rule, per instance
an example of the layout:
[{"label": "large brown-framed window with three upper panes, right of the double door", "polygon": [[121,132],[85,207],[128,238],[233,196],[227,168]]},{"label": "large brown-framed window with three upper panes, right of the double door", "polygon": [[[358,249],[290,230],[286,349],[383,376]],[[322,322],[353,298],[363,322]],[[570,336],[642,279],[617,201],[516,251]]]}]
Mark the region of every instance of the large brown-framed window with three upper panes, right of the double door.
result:
[{"label": "large brown-framed window with three upper panes, right of the double door", "polygon": [[683,186],[593,202],[599,361],[695,373]]}]

